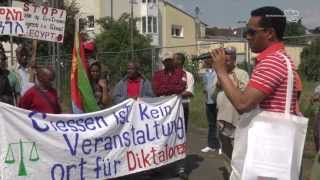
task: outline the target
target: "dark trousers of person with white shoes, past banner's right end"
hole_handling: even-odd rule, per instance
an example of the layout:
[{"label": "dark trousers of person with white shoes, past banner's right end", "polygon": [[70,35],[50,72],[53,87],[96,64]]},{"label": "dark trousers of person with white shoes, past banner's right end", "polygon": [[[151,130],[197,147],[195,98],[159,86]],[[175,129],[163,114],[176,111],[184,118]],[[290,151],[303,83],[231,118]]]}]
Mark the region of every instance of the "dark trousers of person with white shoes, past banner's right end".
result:
[{"label": "dark trousers of person with white shoes, past banner's right end", "polygon": [[206,114],[208,120],[208,146],[220,148],[217,133],[217,104],[206,104]]}]

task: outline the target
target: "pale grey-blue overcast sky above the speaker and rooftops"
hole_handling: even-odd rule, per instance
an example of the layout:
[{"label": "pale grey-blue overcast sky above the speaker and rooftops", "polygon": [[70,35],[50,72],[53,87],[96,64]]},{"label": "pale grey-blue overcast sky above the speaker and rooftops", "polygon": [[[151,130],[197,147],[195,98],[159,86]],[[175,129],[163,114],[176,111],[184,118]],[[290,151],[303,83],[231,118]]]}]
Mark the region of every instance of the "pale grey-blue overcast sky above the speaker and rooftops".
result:
[{"label": "pale grey-blue overcast sky above the speaker and rooftops", "polygon": [[282,10],[297,10],[308,28],[320,26],[320,0],[169,0],[177,7],[195,15],[209,27],[239,27],[238,21],[248,20],[250,11],[262,6],[277,6]]}]

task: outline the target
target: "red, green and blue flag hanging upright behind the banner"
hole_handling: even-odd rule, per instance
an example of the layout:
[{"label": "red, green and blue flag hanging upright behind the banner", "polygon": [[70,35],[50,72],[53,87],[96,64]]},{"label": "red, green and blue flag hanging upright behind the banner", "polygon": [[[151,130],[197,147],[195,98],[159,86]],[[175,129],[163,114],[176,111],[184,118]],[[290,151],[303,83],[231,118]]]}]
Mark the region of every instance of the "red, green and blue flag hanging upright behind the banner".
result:
[{"label": "red, green and blue flag hanging upright behind the banner", "polygon": [[90,85],[88,69],[80,34],[77,32],[74,37],[70,80],[73,113],[100,110]]}]

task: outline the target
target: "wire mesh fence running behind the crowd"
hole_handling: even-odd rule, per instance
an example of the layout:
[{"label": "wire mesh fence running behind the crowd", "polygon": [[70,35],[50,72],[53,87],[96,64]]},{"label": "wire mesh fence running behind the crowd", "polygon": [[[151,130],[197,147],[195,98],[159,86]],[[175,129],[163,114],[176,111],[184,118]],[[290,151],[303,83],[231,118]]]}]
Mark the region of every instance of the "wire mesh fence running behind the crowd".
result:
[{"label": "wire mesh fence running behind the crowd", "polygon": [[[89,58],[89,63],[97,60],[102,65],[103,78],[109,82],[110,90],[115,84],[122,79],[127,73],[127,63],[129,61],[139,62],[140,72],[149,80],[152,79],[152,74],[163,67],[159,60],[160,53],[163,51],[182,52],[186,55],[187,61],[185,68],[192,72],[196,79],[201,73],[201,62],[192,61],[193,57],[200,53],[208,52],[211,48],[229,46],[227,43],[205,43],[187,46],[149,48],[122,52],[98,52],[95,57]],[[232,45],[232,44],[231,44]],[[190,53],[191,52],[191,53]],[[239,51],[239,56],[245,59],[245,52]],[[63,104],[70,107],[70,70],[71,70],[71,54],[42,56],[37,57],[38,65],[53,67],[56,75],[55,87],[59,93]],[[243,60],[241,60],[243,61]]]}]

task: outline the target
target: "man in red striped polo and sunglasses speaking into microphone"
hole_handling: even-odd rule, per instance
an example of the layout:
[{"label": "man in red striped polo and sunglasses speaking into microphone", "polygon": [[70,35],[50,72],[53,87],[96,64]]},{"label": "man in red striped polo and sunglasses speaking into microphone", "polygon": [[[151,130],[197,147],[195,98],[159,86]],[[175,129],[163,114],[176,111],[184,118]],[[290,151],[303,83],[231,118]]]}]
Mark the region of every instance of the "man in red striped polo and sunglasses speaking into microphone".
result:
[{"label": "man in red striped polo and sunglasses speaking into microphone", "polygon": [[[272,112],[284,112],[287,89],[287,65],[283,33],[286,17],[276,7],[262,7],[251,12],[245,37],[254,53],[259,53],[249,84],[241,92],[228,77],[225,67],[226,56],[222,48],[211,52],[213,68],[221,86],[234,107],[248,112],[257,105]],[[290,59],[290,58],[289,58]],[[295,66],[291,61],[292,70]],[[294,87],[291,113],[296,114],[297,90]]]}]

